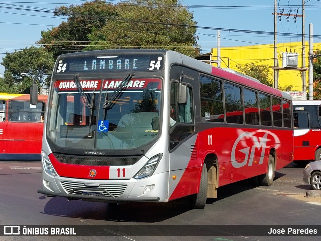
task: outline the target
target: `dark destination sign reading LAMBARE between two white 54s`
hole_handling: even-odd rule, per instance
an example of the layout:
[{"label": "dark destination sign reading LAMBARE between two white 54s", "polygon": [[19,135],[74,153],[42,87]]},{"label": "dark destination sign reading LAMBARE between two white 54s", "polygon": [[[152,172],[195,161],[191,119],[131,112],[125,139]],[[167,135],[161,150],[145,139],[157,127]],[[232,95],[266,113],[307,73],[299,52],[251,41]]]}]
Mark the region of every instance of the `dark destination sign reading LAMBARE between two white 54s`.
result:
[{"label": "dark destination sign reading LAMBARE between two white 54s", "polygon": [[110,55],[66,57],[58,60],[55,71],[64,73],[102,73],[157,71],[164,66],[163,55]]}]

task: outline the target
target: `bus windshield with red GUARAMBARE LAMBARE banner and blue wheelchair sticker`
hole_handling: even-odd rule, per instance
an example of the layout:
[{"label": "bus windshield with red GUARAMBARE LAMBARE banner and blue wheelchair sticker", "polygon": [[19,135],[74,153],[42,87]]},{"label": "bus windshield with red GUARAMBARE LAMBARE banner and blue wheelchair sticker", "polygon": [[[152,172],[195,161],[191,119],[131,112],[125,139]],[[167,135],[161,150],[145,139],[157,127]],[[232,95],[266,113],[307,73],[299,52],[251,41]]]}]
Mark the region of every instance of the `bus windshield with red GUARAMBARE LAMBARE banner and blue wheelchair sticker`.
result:
[{"label": "bus windshield with red GUARAMBARE LAMBARE banner and blue wheelchair sticker", "polygon": [[122,81],[54,81],[47,123],[51,141],[61,148],[112,150],[138,148],[154,140],[161,115],[161,79],[131,76],[119,88]]}]

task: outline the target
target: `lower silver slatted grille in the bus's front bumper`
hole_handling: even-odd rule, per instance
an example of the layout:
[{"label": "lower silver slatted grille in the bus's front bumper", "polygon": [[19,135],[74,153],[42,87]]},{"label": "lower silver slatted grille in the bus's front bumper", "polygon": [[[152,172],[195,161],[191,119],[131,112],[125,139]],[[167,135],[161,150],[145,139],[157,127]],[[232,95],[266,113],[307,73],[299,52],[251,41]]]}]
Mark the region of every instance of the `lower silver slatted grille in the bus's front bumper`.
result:
[{"label": "lower silver slatted grille in the bus's front bumper", "polygon": [[60,184],[68,194],[82,194],[84,190],[92,192],[101,191],[105,197],[120,197],[127,188],[126,184],[99,184],[97,188],[88,187],[85,183],[70,181],[61,181]]}]

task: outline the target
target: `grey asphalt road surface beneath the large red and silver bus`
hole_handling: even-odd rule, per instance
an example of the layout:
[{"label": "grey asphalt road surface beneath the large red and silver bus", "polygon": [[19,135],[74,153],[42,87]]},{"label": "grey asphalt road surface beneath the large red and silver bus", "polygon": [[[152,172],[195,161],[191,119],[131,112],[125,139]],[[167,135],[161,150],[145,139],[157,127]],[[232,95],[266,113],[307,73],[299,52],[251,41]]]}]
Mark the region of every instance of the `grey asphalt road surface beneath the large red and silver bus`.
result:
[{"label": "grey asphalt road surface beneath the large red and silver bus", "polygon": [[[311,187],[303,182],[302,172],[303,168],[290,164],[276,172],[270,187],[256,186],[252,180],[221,187],[218,199],[208,199],[204,210],[191,210],[187,199],[117,206],[45,197],[37,193],[41,188],[40,162],[2,161],[0,226],[82,225],[80,231],[90,236],[0,236],[0,240],[319,240],[320,226],[318,236],[247,232],[319,224],[321,200],[305,197]],[[213,235],[204,235],[209,230]]]}]

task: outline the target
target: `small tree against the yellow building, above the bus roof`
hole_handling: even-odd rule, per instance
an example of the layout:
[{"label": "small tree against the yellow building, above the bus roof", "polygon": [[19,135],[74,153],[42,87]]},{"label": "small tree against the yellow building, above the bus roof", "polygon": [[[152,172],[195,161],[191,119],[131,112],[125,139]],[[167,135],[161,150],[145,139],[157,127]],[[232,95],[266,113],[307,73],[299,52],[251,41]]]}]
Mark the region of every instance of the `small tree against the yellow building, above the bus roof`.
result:
[{"label": "small tree against the yellow building, above the bus roof", "polygon": [[236,67],[243,74],[249,75],[259,80],[262,84],[273,87],[273,81],[269,72],[268,65],[255,65],[253,63],[250,63],[245,65],[237,65]]}]

